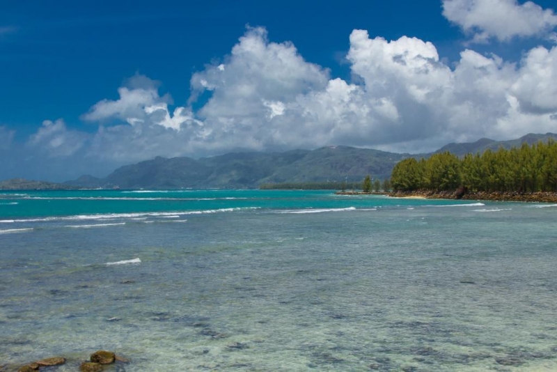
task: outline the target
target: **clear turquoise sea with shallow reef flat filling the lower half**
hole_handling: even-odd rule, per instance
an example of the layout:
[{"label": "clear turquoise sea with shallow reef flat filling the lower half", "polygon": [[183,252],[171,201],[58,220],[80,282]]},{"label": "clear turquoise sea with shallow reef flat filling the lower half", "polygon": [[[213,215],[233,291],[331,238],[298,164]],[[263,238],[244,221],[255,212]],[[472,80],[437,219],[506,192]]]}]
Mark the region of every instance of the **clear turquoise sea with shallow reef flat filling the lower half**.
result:
[{"label": "clear turquoise sea with shallow reef flat filling the lower half", "polygon": [[556,371],[557,206],[2,192],[0,366]]}]

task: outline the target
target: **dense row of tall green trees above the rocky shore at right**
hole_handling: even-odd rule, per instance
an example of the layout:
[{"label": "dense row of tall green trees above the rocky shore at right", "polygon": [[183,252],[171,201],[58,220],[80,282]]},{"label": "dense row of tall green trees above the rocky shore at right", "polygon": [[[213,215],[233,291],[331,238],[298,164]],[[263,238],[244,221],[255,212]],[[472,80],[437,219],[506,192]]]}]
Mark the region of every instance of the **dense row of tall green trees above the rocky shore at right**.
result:
[{"label": "dense row of tall green trees above the rocky shore at right", "polygon": [[449,152],[427,159],[409,157],[391,174],[395,191],[557,192],[557,143],[549,139],[532,146],[485,150],[460,158]]}]

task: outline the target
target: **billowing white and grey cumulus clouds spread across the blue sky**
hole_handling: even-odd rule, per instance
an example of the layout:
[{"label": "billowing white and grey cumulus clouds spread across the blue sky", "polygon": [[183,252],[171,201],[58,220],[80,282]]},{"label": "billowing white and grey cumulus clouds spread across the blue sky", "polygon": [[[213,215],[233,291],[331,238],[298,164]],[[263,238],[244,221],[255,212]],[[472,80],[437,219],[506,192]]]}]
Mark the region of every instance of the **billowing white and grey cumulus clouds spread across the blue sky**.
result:
[{"label": "billowing white and grey cumulus clouds spread across the blue sky", "polygon": [[[547,38],[557,25],[553,10],[531,2],[445,0],[443,9],[483,42]],[[266,29],[249,28],[230,54],[192,75],[187,104],[174,106],[157,82],[136,75],[118,88],[118,99],[100,100],[81,116],[98,125],[96,132],[45,121],[26,150],[102,162],[108,172],[157,155],[329,144],[416,153],[450,141],[557,131],[556,46],[535,47],[519,61],[464,49],[448,64],[432,42],[418,38],[385,40],[354,30],[349,42],[347,81],[306,61],[292,42],[272,42]],[[194,110],[196,100],[201,108]],[[0,148],[12,137],[0,127]]]}]

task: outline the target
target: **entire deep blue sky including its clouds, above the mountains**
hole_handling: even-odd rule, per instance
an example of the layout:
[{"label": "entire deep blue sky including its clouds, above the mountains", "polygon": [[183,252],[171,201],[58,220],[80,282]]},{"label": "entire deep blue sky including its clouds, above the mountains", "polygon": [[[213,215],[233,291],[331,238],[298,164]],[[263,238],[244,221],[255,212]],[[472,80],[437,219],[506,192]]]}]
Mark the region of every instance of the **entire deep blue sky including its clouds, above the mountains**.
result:
[{"label": "entire deep blue sky including its clouds, above the mountains", "polygon": [[0,1],[0,180],[546,132],[554,0]]}]

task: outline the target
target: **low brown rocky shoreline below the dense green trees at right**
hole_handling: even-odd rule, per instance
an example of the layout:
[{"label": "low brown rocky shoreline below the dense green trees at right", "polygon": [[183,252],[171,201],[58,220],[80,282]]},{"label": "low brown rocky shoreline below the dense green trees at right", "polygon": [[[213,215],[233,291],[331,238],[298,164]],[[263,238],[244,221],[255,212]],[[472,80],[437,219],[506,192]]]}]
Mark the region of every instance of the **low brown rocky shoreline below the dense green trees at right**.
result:
[{"label": "low brown rocky shoreline below the dense green trees at right", "polygon": [[462,199],[478,201],[526,201],[531,203],[557,203],[557,192],[469,192],[399,191],[399,192],[336,192],[337,195],[386,195],[394,198]]}]

